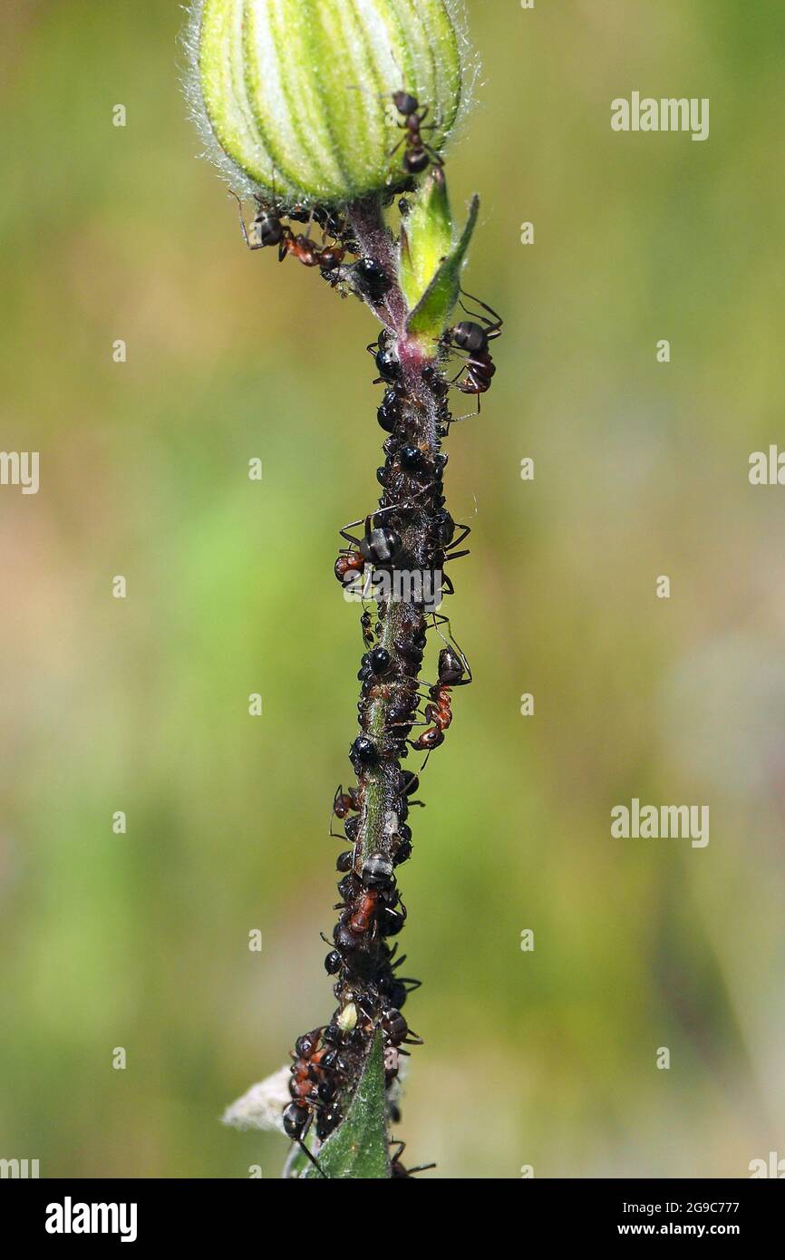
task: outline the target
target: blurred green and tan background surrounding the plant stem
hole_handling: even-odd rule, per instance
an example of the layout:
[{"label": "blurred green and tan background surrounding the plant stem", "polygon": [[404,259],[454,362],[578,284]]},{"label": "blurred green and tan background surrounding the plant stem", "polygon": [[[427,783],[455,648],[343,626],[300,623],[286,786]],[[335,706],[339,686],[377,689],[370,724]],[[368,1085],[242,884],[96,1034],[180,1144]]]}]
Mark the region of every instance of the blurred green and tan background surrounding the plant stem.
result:
[{"label": "blurred green and tan background surrounding the plant stem", "polygon": [[[178,4],[1,9],[3,447],[42,488],[0,489],[0,1155],[276,1177],[284,1139],[219,1116],[331,1009],[360,651],[331,567],[378,493],[375,334],[243,248]],[[469,9],[449,178],[507,324],[449,447],[475,685],[402,871],[401,1135],[440,1177],[745,1177],[785,1155],[785,490],[747,480],[782,436],[785,10]],[[709,140],[614,134],[633,89],[709,97]],[[708,804],[708,848],[612,840],[631,796]]]}]

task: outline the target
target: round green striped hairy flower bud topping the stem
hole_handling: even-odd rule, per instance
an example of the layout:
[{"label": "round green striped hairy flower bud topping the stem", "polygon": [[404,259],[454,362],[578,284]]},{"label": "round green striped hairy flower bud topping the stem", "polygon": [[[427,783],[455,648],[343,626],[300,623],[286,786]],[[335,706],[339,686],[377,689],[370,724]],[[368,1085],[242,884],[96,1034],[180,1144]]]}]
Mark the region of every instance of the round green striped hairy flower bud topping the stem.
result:
[{"label": "round green striped hairy flower bud topping the stem", "polygon": [[241,192],[344,204],[407,178],[393,93],[442,149],[461,105],[456,0],[195,0],[193,112]]}]

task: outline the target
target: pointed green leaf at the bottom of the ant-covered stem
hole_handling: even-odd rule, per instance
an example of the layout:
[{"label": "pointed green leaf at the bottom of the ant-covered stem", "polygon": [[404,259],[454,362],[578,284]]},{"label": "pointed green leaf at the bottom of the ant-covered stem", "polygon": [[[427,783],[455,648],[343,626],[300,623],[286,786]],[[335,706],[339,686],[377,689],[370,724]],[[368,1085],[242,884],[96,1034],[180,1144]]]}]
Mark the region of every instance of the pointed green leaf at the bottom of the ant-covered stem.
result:
[{"label": "pointed green leaf at the bottom of the ant-covered stem", "polygon": [[[381,1181],[389,1177],[387,1100],[382,1036],[377,1032],[347,1119],[316,1157],[325,1177]],[[305,1174],[319,1181],[310,1167]]]}]

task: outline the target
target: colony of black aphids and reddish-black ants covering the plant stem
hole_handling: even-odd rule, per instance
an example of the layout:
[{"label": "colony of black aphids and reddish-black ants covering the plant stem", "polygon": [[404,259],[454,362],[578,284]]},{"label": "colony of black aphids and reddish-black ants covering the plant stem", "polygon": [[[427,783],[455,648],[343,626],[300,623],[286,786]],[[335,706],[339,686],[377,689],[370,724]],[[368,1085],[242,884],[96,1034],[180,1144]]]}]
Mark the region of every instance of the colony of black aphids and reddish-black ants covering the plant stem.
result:
[{"label": "colony of black aphids and reddish-black ants covering the plant stem", "polygon": [[[399,193],[413,192],[413,176],[428,166],[441,168],[441,158],[423,132],[427,107],[408,92],[396,92],[393,106],[403,131],[392,152],[403,147],[402,180],[391,188],[389,203]],[[393,181],[394,183],[394,181]],[[402,214],[408,204],[401,200]],[[241,224],[251,249],[277,247],[278,258],[297,258],[304,266],[377,309],[388,326],[368,346],[384,386],[378,422],[388,435],[384,464],[377,470],[382,486],[378,508],[340,530],[347,544],[335,561],[335,576],[347,583],[365,570],[388,572],[418,570],[440,573],[441,590],[452,593],[444,567],[461,556],[470,530],[456,524],[445,505],[444,472],[447,455],[441,441],[454,422],[449,408],[450,387],[478,398],[491,384],[495,367],[490,343],[501,333],[501,319],[484,302],[464,306],[469,319],[447,329],[435,344],[430,363],[420,364],[415,381],[399,357],[401,329],[382,310],[393,280],[373,258],[359,256],[359,244],[348,217],[324,207],[285,208],[276,198],[257,198],[257,213]],[[295,227],[292,227],[295,224]],[[307,224],[306,232],[296,226]],[[312,226],[321,241],[311,238]],[[354,261],[347,258],[354,256]],[[464,294],[464,297],[467,295]],[[461,302],[462,305],[462,302]],[[454,357],[462,358],[452,379],[444,372]],[[478,413],[475,412],[475,415]],[[358,529],[359,533],[353,530]],[[455,643],[446,616],[411,598],[375,597],[375,616],[367,605],[360,616],[363,655],[359,669],[359,733],[349,750],[357,785],[339,786],[333,801],[330,834],[348,845],[336,861],[340,876],[338,921],[325,958],[334,976],[336,1008],[328,1024],[297,1038],[292,1052],[290,1095],[284,1128],[307,1159],[321,1172],[319,1145],[347,1114],[374,1037],[382,1038],[391,1123],[399,1119],[396,1080],[401,1056],[421,1045],[402,1014],[408,994],[420,982],[399,974],[404,956],[392,942],[406,922],[406,907],[397,887],[397,869],[412,854],[410,810],[420,772],[431,752],[445,741],[452,722],[452,690],[471,682],[466,658]],[[438,640],[436,678],[420,680],[428,634]],[[410,752],[425,753],[417,770],[402,767]],[[344,833],[334,830],[334,820]],[[306,1137],[315,1135],[314,1150]],[[389,1155],[392,1177],[410,1177],[420,1168],[404,1168],[402,1143]],[[432,1166],[422,1166],[432,1167]]]}]

